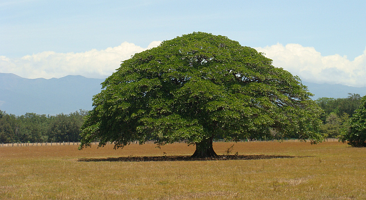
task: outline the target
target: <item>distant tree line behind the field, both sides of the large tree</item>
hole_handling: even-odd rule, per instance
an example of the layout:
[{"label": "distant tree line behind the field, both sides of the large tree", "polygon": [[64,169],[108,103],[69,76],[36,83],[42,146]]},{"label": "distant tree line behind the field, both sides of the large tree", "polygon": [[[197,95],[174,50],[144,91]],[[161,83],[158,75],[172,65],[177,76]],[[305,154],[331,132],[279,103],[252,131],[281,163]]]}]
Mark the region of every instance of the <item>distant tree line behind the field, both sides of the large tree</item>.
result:
[{"label": "distant tree line behind the field, both sides of the large tree", "polygon": [[[324,110],[321,116],[324,138],[338,138],[360,102],[359,94],[349,94],[347,98],[317,99],[316,103]],[[15,116],[0,110],[0,143],[79,142],[86,114],[86,110],[79,110],[56,116],[36,113]]]}]

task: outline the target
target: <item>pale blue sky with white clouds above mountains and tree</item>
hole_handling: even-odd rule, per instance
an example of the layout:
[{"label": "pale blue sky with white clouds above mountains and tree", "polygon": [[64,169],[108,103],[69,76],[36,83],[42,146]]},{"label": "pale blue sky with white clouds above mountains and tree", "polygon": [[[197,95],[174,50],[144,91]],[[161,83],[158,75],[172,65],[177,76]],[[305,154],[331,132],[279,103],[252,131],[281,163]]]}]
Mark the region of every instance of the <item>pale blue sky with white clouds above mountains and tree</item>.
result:
[{"label": "pale blue sky with white clouds above mountains and tree", "polygon": [[0,0],[0,73],[105,78],[159,41],[227,36],[316,83],[366,86],[364,0]]}]

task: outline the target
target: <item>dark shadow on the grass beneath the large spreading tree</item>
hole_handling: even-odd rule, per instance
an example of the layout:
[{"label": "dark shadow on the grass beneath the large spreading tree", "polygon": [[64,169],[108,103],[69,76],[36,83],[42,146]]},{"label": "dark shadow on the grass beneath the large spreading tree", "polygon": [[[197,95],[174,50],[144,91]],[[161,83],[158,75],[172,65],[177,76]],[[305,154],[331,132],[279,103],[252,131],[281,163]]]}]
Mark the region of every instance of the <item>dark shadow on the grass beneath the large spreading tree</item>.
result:
[{"label": "dark shadow on the grass beneath the large spreading tree", "polygon": [[128,156],[119,158],[80,158],[78,162],[161,162],[161,161],[227,161],[227,160],[260,160],[276,158],[305,158],[313,156],[283,155],[219,155],[216,158],[191,158],[190,156]]}]

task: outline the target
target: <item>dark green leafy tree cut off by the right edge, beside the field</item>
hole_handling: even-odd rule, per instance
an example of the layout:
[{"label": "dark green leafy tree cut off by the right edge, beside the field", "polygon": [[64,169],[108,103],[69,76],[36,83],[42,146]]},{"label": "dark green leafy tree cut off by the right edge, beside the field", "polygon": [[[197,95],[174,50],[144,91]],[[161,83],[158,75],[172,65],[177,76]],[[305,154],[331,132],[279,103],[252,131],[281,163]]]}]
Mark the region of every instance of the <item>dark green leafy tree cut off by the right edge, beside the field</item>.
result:
[{"label": "dark green leafy tree cut off by the right edge, beside the field", "polygon": [[366,147],[366,95],[362,97],[359,109],[350,118],[349,126],[343,131],[340,140],[348,141],[351,146]]}]

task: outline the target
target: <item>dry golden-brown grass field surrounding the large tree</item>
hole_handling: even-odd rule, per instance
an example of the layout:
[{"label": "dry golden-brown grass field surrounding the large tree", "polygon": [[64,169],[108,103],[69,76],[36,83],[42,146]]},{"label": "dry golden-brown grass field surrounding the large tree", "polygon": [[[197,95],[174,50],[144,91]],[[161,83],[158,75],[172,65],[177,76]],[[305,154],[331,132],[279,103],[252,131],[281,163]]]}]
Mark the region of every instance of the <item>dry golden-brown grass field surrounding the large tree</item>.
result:
[{"label": "dry golden-brown grass field surrounding the large tree", "polygon": [[[77,150],[77,145],[0,147],[0,199],[366,199],[366,148],[339,142],[214,143],[218,154],[294,158],[111,162],[191,155],[178,143]],[[95,160],[81,162],[81,160]]]}]

